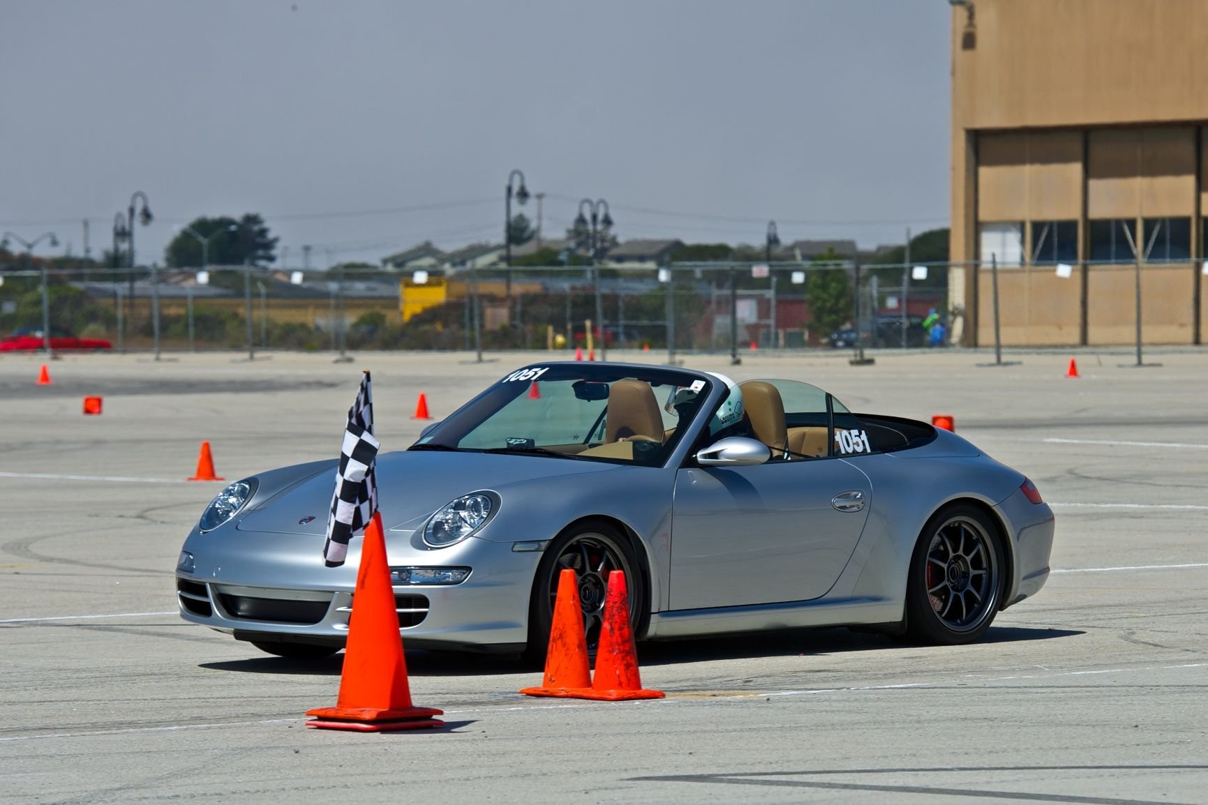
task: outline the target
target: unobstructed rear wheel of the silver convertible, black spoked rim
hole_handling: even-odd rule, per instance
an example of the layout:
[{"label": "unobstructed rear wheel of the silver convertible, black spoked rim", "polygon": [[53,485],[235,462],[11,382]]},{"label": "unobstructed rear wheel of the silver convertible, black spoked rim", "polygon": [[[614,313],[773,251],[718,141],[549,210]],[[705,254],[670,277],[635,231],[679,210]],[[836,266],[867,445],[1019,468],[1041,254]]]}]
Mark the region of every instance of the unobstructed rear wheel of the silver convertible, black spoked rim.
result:
[{"label": "unobstructed rear wheel of the silver convertible, black spoked rim", "polygon": [[906,632],[940,646],[971,643],[994,622],[1005,594],[999,526],[980,507],[954,503],[919,535],[906,584]]}]

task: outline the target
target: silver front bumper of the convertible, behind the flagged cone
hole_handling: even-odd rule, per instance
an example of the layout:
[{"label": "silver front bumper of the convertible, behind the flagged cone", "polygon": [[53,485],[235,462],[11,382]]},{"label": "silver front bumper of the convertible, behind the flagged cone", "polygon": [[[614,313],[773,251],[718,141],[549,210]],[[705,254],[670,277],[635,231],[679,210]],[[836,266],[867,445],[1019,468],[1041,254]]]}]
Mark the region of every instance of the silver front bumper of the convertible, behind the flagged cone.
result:
[{"label": "silver front bumper of the convertible, behind the flagged cone", "polygon": [[[190,539],[191,573],[178,571],[176,601],[185,620],[240,640],[343,644],[353,607],[360,539],[343,567],[323,567],[321,542],[310,552],[294,535],[244,533],[236,555],[226,541],[205,547]],[[412,647],[503,649],[528,638],[529,595],[540,553],[513,552],[511,543],[471,537],[459,546],[418,553],[403,535],[388,537],[391,567],[471,567],[460,584],[394,587],[400,634]],[[307,544],[306,547],[310,547]],[[306,567],[290,559],[306,558]]]}]

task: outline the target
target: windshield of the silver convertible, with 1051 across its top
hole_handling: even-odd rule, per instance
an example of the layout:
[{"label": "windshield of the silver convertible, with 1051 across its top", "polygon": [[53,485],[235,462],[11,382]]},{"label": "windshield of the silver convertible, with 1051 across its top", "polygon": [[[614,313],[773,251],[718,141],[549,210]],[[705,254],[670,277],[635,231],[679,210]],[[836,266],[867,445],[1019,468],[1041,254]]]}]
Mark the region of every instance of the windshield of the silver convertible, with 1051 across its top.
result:
[{"label": "windshield of the silver convertible, with 1051 across its top", "polygon": [[710,387],[666,368],[534,366],[504,377],[411,449],[661,466]]}]

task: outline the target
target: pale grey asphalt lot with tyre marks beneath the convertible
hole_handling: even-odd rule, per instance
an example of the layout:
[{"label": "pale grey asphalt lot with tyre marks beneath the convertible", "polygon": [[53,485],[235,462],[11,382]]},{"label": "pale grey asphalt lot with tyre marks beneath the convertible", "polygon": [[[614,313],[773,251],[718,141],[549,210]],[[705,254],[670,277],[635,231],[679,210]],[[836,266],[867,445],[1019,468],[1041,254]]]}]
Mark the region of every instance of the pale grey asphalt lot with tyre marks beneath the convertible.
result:
[{"label": "pale grey asphalt lot with tyre marks beneath the convertible", "polygon": [[339,657],[269,658],[175,614],[180,543],[220,486],[185,478],[202,439],[227,479],[335,457],[361,367],[401,449],[419,392],[439,418],[547,354],[170,357],[69,356],[51,386],[40,358],[0,360],[0,805],[1208,804],[1208,355],[1078,354],[1078,379],[1057,352],[689,356],[853,410],[952,414],[1053,506],[1049,584],[966,647],[643,644],[657,701],[532,700],[516,690],[540,673],[515,661],[408,652],[416,704],[447,725],[393,735],[303,727]]}]

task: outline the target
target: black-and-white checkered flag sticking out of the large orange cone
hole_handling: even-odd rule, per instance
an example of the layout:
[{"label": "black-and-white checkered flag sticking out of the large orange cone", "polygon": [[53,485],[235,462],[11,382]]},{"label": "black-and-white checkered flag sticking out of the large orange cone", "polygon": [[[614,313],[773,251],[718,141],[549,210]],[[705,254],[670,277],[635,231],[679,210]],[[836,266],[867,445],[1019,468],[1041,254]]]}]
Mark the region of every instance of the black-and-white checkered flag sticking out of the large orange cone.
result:
[{"label": "black-and-white checkered flag sticking out of the large orange cone", "polygon": [[361,377],[356,402],[348,409],[344,443],[339,449],[336,489],[331,495],[327,514],[327,541],[323,546],[323,561],[327,567],[339,567],[348,555],[348,542],[368,525],[377,512],[378,441],[373,437],[373,397],[370,373]]}]

